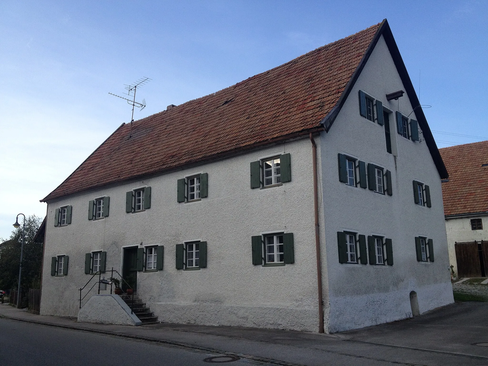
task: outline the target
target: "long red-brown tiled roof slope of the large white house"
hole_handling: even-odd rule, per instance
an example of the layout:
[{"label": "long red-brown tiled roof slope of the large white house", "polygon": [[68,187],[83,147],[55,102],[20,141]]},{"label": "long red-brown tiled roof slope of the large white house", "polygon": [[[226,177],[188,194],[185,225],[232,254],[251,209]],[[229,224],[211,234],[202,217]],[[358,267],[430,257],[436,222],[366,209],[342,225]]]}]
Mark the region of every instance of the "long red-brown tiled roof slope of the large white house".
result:
[{"label": "long red-brown tiled roof slope of the large white house", "polygon": [[381,23],[214,94],[120,126],[42,201],[321,127]]}]

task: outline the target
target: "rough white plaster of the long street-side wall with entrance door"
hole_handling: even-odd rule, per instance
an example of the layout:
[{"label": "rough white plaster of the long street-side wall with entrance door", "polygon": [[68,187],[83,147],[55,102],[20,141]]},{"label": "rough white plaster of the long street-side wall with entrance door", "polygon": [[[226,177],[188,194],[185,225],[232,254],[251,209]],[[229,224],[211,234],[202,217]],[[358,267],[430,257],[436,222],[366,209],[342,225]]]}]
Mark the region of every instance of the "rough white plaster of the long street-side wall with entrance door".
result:
[{"label": "rough white plaster of the long street-side wall with entrance door", "polygon": [[[291,182],[251,189],[250,162],[280,153],[290,153]],[[177,203],[177,180],[200,172],[208,173],[208,197]],[[125,192],[144,185],[151,186],[151,208],[126,213]],[[89,200],[102,196],[110,196],[109,216],[89,221]],[[55,227],[55,209],[67,204],[73,206],[72,223]],[[66,197],[49,202],[47,215],[41,314],[76,316],[79,288],[90,278],[84,274],[85,253],[106,251],[106,269],[122,273],[122,247],[142,242],[164,246],[163,270],[138,272],[137,290],[160,321],[318,329],[308,139]],[[295,264],[252,264],[251,236],[266,231],[294,233]],[[192,239],[207,242],[207,268],[175,269],[175,245]],[[68,274],[51,276],[51,257],[64,253]]]}]

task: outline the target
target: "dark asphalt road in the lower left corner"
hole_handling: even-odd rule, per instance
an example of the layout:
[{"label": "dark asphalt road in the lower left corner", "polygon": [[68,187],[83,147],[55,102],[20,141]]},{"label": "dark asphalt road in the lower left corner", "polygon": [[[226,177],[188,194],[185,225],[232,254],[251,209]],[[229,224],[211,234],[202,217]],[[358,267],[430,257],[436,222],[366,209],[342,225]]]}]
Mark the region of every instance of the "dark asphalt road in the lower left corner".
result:
[{"label": "dark asphalt road in the lower left corner", "polygon": [[[0,319],[0,364],[5,366],[212,365],[204,353],[103,334]],[[258,365],[238,360],[227,365]]]}]

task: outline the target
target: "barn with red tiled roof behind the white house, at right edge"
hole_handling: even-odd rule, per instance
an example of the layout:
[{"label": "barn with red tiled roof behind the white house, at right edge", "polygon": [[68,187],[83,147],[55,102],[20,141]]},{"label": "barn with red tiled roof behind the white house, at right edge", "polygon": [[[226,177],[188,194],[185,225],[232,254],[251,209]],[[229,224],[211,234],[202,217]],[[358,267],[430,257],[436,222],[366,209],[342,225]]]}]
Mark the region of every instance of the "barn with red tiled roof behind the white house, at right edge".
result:
[{"label": "barn with red tiled roof behind the white house, at right edge", "polygon": [[459,278],[488,276],[488,141],[440,149],[449,262]]}]

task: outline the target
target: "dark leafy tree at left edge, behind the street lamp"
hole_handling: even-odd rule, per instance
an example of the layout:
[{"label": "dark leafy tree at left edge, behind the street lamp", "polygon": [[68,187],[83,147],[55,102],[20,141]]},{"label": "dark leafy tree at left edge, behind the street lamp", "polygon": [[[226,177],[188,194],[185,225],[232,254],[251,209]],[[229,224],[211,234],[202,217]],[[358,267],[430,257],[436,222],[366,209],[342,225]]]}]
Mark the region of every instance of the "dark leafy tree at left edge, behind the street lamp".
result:
[{"label": "dark leafy tree at left edge, behind the street lamp", "polygon": [[[12,231],[10,239],[0,244],[0,289],[17,288],[19,284],[20,245],[22,241],[23,218],[20,227]],[[42,219],[36,215],[25,220],[25,243],[22,259],[21,287],[22,304],[27,300],[29,288],[41,288],[42,240],[34,241]]]}]

